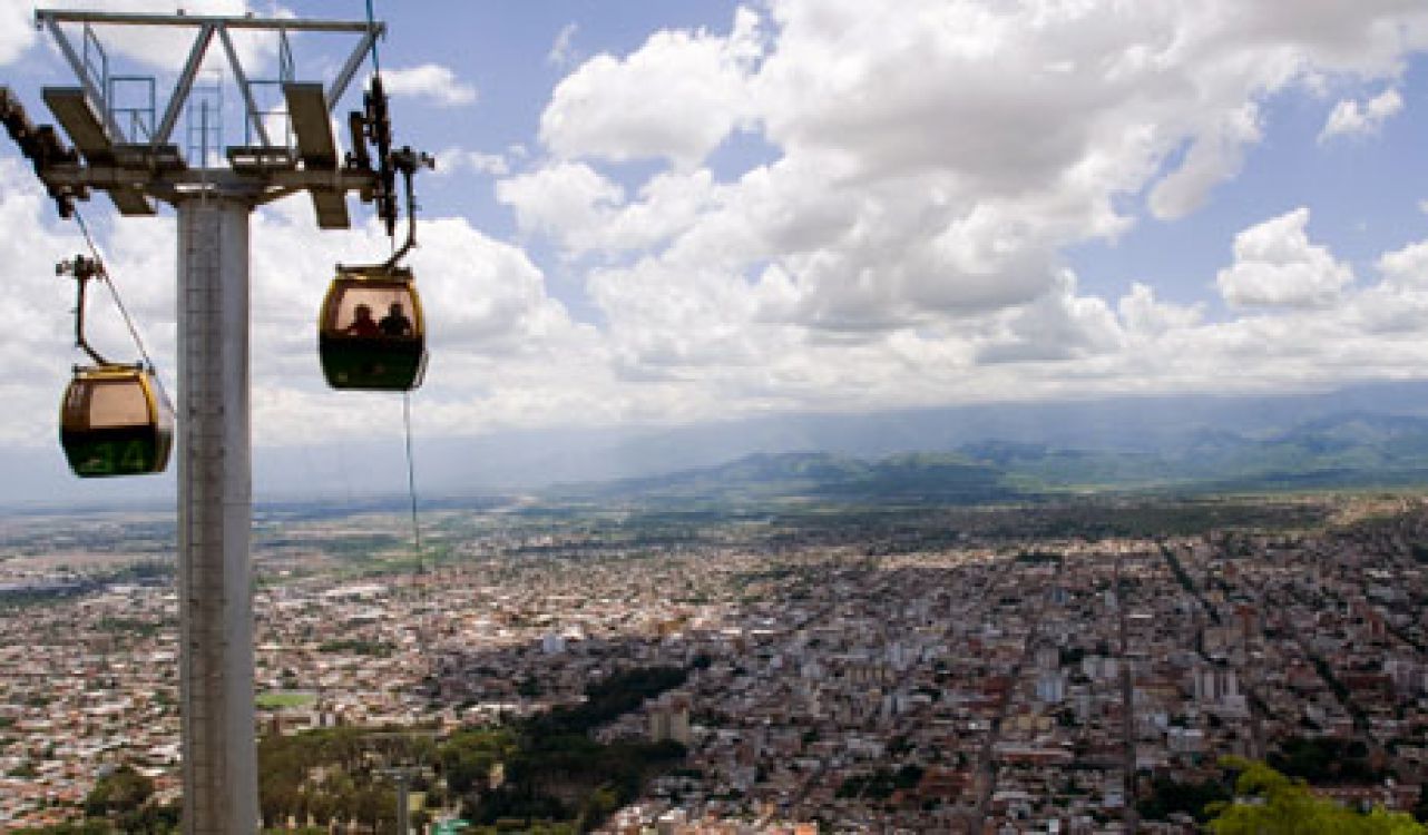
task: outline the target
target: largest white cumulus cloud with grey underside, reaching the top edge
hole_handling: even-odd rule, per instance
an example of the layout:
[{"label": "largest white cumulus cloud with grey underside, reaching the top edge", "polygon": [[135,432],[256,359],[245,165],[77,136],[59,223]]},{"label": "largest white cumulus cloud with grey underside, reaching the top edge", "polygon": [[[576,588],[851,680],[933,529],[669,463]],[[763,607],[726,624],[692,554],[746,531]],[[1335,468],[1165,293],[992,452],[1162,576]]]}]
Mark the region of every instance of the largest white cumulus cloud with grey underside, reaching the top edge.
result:
[{"label": "largest white cumulus cloud with grey underside, reaching the top edge", "polygon": [[[1124,234],[1137,196],[1167,220],[1204,206],[1261,141],[1267,97],[1391,77],[1411,43],[1428,14],[1391,0],[1292,20],[1267,1],[778,0],[578,67],[541,120],[554,161],[501,194],[567,254],[628,251],[670,285],[743,287],[757,321],[878,338],[1054,295],[1060,253]],[[688,171],[738,126],[775,158],[683,201],[604,173]],[[620,271],[598,280],[604,304],[625,297]]]}]

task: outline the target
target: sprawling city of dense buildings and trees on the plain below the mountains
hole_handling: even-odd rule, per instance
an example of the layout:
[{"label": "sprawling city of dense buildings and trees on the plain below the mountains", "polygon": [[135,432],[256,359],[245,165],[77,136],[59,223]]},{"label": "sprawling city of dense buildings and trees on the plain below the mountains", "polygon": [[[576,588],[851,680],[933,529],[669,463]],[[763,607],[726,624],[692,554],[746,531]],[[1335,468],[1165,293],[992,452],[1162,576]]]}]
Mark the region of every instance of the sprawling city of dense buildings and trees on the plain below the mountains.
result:
[{"label": "sprawling city of dense buildings and trees on the plain below the mountains", "polygon": [[[1194,832],[1227,756],[1428,816],[1417,495],[410,524],[260,508],[267,829],[394,832],[401,794],[430,832]],[[0,829],[176,819],[173,540],[0,518]]]}]

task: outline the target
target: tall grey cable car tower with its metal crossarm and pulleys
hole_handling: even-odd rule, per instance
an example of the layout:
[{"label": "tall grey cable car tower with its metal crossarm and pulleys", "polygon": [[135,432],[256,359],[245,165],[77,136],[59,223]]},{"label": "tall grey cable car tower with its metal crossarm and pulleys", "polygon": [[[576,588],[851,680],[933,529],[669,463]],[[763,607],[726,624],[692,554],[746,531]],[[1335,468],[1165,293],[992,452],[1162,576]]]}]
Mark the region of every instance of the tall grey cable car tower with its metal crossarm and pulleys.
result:
[{"label": "tall grey cable car tower with its metal crossarm and pulleys", "polygon": [[[178,216],[178,604],[183,707],[184,824],[188,834],[250,834],[258,825],[254,744],[253,607],[250,568],[251,450],[248,404],[248,220],[254,207],[307,193],[320,228],[347,228],[347,193],[376,201],[391,230],[397,216],[393,167],[407,174],[410,148],[391,151],[380,84],[348,126],[353,148],[338,154],[331,131],[337,107],[386,26],[373,20],[263,20],[191,14],[120,14],[39,10],[79,86],[46,87],[44,103],[74,148],[49,126],[34,127],[0,87],[0,121],[34,166],[63,217],[74,201],[104,191],[123,216],[154,214],[154,201]],[[147,27],[193,36],[161,113],[154,80],[111,76],[96,27]],[[80,49],[71,40],[79,30]],[[258,108],[263,84],[234,47],[234,31],[270,33],[286,104],[287,137],[274,137],[273,113]],[[354,36],[356,44],[326,86],[293,77],[288,34]],[[241,94],[246,143],[210,147],[213,124],[197,130],[201,153],[171,140],[204,60],[220,44]],[[149,107],[121,107],[121,84],[147,84]],[[203,108],[203,114],[207,114]],[[281,138],[283,141],[276,141]],[[380,140],[380,141],[378,141]],[[366,144],[376,146],[374,154]],[[220,143],[221,144],[221,143]],[[77,150],[77,153],[76,153]],[[403,156],[403,153],[406,156]],[[403,167],[403,160],[406,166]]]}]

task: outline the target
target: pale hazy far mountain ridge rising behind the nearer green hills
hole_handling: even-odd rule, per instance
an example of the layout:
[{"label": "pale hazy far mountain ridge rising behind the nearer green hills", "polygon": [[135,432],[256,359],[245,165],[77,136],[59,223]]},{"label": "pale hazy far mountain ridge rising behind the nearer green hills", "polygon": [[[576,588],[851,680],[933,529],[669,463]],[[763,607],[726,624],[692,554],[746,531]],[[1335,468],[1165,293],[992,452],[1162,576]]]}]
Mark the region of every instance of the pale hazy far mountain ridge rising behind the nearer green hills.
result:
[{"label": "pale hazy far mountain ridge rising behind the nearer green hills", "polygon": [[[1428,418],[1428,383],[1295,394],[1177,394],[777,414],[680,427],[513,431],[430,444],[418,440],[418,472],[427,492],[500,492],[651,478],[720,467],[760,452],[818,451],[858,461],[947,452],[1001,468],[997,460],[972,454],[1001,447],[1005,455],[1024,454],[1025,448],[1050,455],[1044,467],[1034,470],[1061,470],[1052,484],[1151,484],[1167,475],[1161,471],[1165,461],[1182,470],[1170,474],[1172,481],[1222,477],[1222,467],[1195,472],[1197,458],[1234,458],[1275,435],[1344,415]],[[378,457],[383,450],[363,451],[370,471],[400,472],[400,447],[391,447],[390,460]],[[288,460],[301,458],[290,454],[284,465]],[[256,472],[261,477],[264,470]]]}]

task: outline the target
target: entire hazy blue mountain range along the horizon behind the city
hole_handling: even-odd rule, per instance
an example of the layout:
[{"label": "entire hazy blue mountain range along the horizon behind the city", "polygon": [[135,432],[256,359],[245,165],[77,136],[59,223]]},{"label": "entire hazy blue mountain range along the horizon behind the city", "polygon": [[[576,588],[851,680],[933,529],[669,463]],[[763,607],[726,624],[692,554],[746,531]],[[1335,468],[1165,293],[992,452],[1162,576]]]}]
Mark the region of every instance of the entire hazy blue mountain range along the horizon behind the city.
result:
[{"label": "entire hazy blue mountain range along the horizon behind the city", "polygon": [[[731,417],[695,425],[511,430],[426,438],[417,490],[438,497],[873,495],[964,501],[1078,490],[1277,490],[1428,484],[1428,383],[1259,395],[1000,403],[860,414]],[[258,501],[406,494],[394,427],[363,440],[254,437]],[[821,457],[820,457],[821,454]],[[793,455],[784,458],[784,455]],[[171,507],[173,474],[74,480],[57,448],[0,450],[0,504]],[[673,474],[673,475],[671,475]],[[663,480],[663,481],[661,481]],[[595,485],[610,482],[601,492]],[[578,485],[578,487],[577,487]],[[651,487],[645,487],[651,485]],[[720,487],[723,485],[723,487]],[[741,487],[734,487],[741,485]],[[758,485],[754,490],[754,485]]]}]

